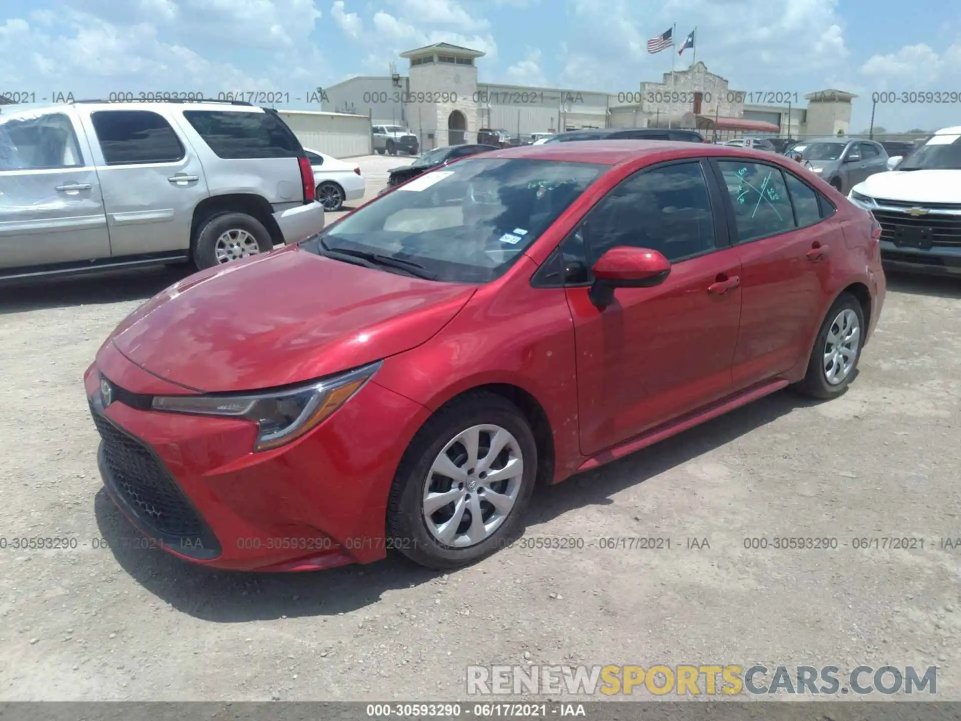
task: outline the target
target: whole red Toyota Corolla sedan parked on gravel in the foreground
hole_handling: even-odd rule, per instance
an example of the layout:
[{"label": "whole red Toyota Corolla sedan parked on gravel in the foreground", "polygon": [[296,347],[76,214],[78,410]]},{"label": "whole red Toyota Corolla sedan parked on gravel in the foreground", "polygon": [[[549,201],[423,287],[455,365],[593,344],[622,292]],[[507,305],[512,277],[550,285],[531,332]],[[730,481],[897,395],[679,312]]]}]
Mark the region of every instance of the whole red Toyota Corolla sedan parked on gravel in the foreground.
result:
[{"label": "whole red Toyota Corolla sedan parked on gravel in the foreground", "polygon": [[479,559],[535,483],[786,385],[844,392],[879,236],[797,163],[733,147],[456,162],[121,323],[85,375],[104,483],[218,568]]}]

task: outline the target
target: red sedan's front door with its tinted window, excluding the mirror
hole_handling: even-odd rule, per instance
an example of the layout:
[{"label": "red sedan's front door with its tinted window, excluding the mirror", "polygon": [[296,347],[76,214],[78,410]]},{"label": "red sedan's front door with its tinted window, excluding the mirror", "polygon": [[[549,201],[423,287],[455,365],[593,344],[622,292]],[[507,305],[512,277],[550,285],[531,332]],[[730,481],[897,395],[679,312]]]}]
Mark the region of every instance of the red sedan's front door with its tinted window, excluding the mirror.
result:
[{"label": "red sedan's front door with its tinted window, excluding the mirror", "polygon": [[[730,390],[741,313],[740,261],[721,199],[697,160],[643,169],[610,191],[565,240],[590,268],[609,248],[651,248],[672,261],[660,286],[618,288],[599,311],[567,287],[577,343],[580,450],[595,454]],[[719,219],[722,219],[719,222]],[[570,277],[570,276],[569,276]]]}]

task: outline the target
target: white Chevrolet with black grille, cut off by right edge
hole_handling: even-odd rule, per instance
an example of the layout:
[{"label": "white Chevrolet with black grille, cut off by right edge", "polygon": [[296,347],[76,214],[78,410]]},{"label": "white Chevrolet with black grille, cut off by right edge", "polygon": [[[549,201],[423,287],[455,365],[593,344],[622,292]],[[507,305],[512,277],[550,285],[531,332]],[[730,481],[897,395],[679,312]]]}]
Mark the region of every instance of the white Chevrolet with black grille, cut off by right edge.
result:
[{"label": "white Chevrolet with black grille, cut off by right edge", "polygon": [[892,269],[961,276],[961,125],[891,161],[893,172],[872,175],[849,196],[880,222],[881,260]]}]

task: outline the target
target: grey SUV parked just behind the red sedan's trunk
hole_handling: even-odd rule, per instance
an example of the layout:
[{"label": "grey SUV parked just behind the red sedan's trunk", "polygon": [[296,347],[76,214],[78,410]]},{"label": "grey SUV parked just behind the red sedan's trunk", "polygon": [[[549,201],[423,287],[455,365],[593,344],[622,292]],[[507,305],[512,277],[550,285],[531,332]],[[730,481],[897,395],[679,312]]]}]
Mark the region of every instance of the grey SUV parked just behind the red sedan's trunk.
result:
[{"label": "grey SUV parked just behind the red sedan's trunk", "polygon": [[888,154],[874,140],[822,137],[795,145],[791,154],[801,155],[804,167],[842,193],[888,169]]}]

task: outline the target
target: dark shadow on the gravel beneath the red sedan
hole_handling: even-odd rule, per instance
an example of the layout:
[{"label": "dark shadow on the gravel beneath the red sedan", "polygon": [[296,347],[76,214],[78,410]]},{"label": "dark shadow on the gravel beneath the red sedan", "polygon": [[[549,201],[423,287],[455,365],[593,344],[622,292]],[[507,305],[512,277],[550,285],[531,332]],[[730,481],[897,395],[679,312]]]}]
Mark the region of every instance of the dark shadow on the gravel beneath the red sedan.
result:
[{"label": "dark shadow on the gravel beneath the red sedan", "polygon": [[[776,393],[603,468],[538,488],[525,525],[544,523],[583,506],[611,505],[611,496],[629,485],[641,484],[810,403],[790,392]],[[362,609],[390,590],[424,584],[439,575],[400,555],[317,573],[214,571],[159,549],[143,549],[134,528],[103,490],[95,497],[94,512],[114,558],[139,584],[175,609],[217,623]]]}]

